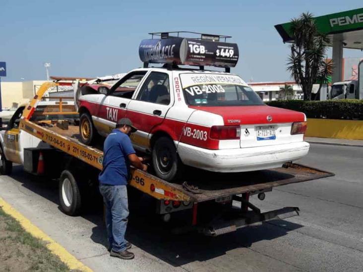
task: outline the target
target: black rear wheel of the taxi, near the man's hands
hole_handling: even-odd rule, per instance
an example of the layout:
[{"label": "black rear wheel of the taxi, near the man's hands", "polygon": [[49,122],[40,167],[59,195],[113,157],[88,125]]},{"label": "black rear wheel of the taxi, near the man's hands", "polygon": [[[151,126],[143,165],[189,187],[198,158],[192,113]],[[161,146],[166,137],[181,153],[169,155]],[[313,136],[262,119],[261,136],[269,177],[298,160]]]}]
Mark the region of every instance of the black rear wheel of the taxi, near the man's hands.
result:
[{"label": "black rear wheel of the taxi, near the man's hands", "polygon": [[152,161],[158,177],[167,181],[180,177],[183,164],[174,142],[169,137],[160,137],[156,140],[152,150]]}]

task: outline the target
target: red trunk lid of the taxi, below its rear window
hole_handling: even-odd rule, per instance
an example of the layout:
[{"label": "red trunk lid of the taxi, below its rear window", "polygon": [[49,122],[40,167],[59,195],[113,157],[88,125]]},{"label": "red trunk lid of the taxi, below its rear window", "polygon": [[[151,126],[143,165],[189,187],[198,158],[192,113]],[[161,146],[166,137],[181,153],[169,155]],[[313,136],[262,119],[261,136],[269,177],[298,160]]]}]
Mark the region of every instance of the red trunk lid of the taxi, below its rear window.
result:
[{"label": "red trunk lid of the taxi, below its rear window", "polygon": [[[303,112],[267,105],[189,106],[189,108],[218,114],[223,117],[225,125],[291,123],[305,120]],[[271,116],[272,120],[268,121],[267,116]]]}]

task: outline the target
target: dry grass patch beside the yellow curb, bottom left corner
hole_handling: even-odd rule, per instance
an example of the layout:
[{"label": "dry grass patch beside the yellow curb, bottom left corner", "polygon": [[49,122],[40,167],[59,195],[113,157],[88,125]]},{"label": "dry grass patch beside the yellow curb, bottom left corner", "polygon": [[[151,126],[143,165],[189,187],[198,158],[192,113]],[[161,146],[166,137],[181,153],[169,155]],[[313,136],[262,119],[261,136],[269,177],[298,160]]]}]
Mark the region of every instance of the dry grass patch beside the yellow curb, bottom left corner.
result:
[{"label": "dry grass patch beside the yellow curb, bottom left corner", "polygon": [[0,208],[0,270],[65,272],[69,268],[52,254],[46,242],[26,232]]}]

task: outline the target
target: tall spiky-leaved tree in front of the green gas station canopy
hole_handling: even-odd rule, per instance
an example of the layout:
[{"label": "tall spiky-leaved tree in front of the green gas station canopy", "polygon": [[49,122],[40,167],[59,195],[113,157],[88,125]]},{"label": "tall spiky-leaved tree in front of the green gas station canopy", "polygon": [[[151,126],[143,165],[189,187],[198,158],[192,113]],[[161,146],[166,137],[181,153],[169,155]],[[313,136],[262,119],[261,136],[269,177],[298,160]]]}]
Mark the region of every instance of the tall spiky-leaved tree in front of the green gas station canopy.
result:
[{"label": "tall spiky-leaved tree in front of the green gas station canopy", "polygon": [[332,72],[332,61],[329,61],[331,65],[329,71],[325,69],[327,66],[324,66],[327,64],[325,52],[330,38],[319,33],[309,12],[292,19],[290,31],[294,37],[294,43],[291,45],[287,70],[301,85],[304,100],[311,100],[312,85],[318,79],[326,78],[329,71]]}]

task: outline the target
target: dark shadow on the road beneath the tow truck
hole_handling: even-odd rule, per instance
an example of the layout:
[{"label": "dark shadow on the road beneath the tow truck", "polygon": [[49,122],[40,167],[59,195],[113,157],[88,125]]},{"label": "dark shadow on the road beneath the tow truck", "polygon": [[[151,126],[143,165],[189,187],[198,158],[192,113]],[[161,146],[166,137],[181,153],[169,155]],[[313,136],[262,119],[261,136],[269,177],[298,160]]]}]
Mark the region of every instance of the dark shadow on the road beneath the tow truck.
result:
[{"label": "dark shadow on the road beneath the tow truck", "polygon": [[[44,180],[25,173],[21,166],[15,166],[13,179],[21,186],[59,205],[58,180]],[[172,214],[172,222],[162,222],[155,214],[154,200],[143,196],[138,205],[131,204],[126,239],[143,251],[178,267],[194,261],[206,261],[226,254],[226,252],[249,247],[261,240],[272,240],[286,235],[290,230],[301,228],[302,225],[275,219],[259,226],[249,226],[236,232],[217,237],[207,237],[197,233],[174,235],[171,233],[173,224],[182,222],[182,214]],[[103,222],[102,203],[97,201],[96,209],[85,211],[83,218],[96,226],[92,229],[91,239],[105,247],[108,245],[106,228]],[[190,211],[184,213],[185,222],[190,222]],[[174,220],[173,220],[174,217]],[[181,220],[181,221],[179,221]]]}]

